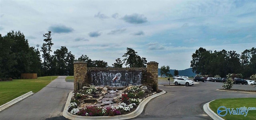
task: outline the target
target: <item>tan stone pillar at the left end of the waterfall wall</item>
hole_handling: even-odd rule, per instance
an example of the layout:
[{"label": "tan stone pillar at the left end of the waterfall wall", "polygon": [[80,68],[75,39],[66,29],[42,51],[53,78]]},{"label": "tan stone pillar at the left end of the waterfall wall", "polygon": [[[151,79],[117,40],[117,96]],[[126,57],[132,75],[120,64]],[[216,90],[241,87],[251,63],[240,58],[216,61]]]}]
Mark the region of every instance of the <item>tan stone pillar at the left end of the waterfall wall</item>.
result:
[{"label": "tan stone pillar at the left end of the waterfall wall", "polygon": [[87,63],[84,61],[76,61],[74,63],[74,90],[82,89],[87,77]]}]

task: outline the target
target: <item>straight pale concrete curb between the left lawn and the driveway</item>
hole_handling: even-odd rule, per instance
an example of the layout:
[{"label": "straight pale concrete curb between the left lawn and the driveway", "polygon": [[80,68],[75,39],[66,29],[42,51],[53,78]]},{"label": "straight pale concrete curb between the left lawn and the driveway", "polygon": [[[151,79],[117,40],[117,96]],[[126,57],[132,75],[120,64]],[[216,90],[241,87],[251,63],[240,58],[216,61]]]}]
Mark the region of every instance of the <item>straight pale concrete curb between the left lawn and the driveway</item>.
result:
[{"label": "straight pale concrete curb between the left lawn and the driveway", "polygon": [[2,110],[6,109],[6,108],[8,108],[8,107],[10,107],[10,106],[12,106],[13,104],[19,102],[20,100],[23,100],[24,98],[26,98],[26,97],[32,95],[32,94],[34,94],[32,91],[27,92],[26,94],[23,94],[22,96],[19,96],[19,97],[13,99],[13,100],[11,100],[11,101],[9,101],[9,102],[7,102],[7,103],[1,105],[1,106],[0,106],[0,112],[1,112]]}]

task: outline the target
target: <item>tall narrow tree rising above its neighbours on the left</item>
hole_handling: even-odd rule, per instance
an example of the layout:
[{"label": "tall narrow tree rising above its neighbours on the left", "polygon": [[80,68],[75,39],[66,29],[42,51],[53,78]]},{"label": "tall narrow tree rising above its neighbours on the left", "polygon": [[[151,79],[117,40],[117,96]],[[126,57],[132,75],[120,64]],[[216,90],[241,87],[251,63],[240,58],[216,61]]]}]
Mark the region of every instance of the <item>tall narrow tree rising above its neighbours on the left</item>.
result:
[{"label": "tall narrow tree rising above its neighbours on the left", "polygon": [[45,33],[43,35],[43,37],[46,37],[44,39],[45,43],[43,43],[42,47],[41,47],[41,51],[43,52],[42,54],[42,58],[44,59],[43,61],[43,70],[45,75],[50,75],[51,73],[49,73],[50,69],[52,68],[52,57],[50,55],[50,52],[52,51],[52,37],[51,37],[51,31],[48,31],[48,33]]}]

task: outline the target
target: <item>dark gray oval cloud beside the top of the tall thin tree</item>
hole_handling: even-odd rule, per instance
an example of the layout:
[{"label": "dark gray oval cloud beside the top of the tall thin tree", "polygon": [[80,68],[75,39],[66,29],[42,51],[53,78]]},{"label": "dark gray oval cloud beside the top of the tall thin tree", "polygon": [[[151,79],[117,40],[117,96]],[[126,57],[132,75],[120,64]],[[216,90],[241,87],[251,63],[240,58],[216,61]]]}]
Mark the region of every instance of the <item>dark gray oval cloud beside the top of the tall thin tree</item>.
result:
[{"label": "dark gray oval cloud beside the top of the tall thin tree", "polygon": [[49,30],[53,33],[70,33],[74,31],[73,28],[64,25],[53,25],[49,27]]}]

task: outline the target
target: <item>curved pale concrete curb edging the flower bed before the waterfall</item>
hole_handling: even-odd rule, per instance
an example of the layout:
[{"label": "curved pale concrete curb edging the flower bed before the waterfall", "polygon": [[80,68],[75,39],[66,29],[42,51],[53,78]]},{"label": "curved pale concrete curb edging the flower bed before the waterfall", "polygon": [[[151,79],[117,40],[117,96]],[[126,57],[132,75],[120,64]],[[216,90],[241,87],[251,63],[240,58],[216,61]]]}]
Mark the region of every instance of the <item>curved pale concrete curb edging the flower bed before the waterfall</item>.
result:
[{"label": "curved pale concrete curb edging the flower bed before the waterfall", "polygon": [[64,107],[63,114],[62,114],[65,118],[68,118],[70,120],[125,120],[125,119],[135,118],[135,117],[139,116],[142,113],[142,111],[144,110],[145,105],[152,98],[155,98],[157,96],[160,96],[160,95],[166,93],[166,91],[162,90],[162,92],[160,92],[158,94],[154,94],[154,95],[151,95],[151,96],[145,98],[144,100],[142,100],[142,102],[140,102],[140,104],[138,105],[136,110],[134,110],[133,112],[131,112],[129,114],[118,115],[118,116],[95,116],[95,117],[92,117],[92,116],[77,116],[77,115],[70,114],[68,112],[68,106],[69,106],[69,103],[70,103],[70,100],[71,100],[71,97],[72,97],[72,92],[70,92],[69,95],[68,95],[68,100],[66,102],[66,105]]}]

